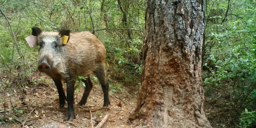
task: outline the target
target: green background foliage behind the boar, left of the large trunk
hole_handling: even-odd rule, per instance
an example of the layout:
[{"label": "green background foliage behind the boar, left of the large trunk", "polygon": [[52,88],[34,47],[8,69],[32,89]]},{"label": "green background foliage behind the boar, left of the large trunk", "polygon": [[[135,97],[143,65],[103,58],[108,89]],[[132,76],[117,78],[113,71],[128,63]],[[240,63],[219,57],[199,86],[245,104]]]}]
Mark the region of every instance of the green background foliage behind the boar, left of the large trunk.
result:
[{"label": "green background foliage behind the boar, left of the large trunk", "polygon": [[[14,45],[9,25],[2,17],[0,19],[0,29],[3,30],[0,32],[0,73],[17,72],[23,77],[29,77],[36,71],[38,47],[29,48],[24,40],[31,34],[32,26],[38,26],[44,31],[69,28],[72,32],[125,28],[122,22],[123,14],[116,1],[102,2],[99,0],[0,2],[3,12],[11,22],[18,46]],[[143,30],[146,8],[144,1],[121,2],[127,13],[128,27]],[[137,5],[129,4],[131,2]],[[100,30],[96,31],[95,35],[105,42],[108,57],[106,64],[110,78],[134,85],[141,73],[141,48],[144,34],[140,31],[131,31],[132,39],[129,39],[127,33],[127,30]],[[17,49],[20,50],[21,55],[18,54]]]}]

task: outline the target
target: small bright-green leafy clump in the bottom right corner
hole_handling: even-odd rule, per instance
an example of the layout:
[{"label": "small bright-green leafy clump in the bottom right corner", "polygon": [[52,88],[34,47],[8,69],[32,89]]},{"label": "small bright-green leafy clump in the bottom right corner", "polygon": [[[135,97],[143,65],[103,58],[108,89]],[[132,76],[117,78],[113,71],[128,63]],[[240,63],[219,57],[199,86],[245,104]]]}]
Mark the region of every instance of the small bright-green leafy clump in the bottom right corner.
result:
[{"label": "small bright-green leafy clump in the bottom right corner", "polygon": [[241,113],[241,128],[253,128],[256,125],[256,111],[249,112],[247,109]]}]

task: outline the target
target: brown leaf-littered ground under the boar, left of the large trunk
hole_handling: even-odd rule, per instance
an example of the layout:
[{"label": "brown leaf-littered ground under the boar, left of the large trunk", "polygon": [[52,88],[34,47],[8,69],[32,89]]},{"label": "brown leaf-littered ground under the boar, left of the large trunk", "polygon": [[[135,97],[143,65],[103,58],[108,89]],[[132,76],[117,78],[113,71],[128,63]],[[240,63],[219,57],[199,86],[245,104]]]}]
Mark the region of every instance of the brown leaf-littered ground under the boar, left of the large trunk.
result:
[{"label": "brown leaf-littered ground under the boar, left of the large trunk", "polygon": [[[6,75],[1,75],[0,78],[4,79],[4,77]],[[97,126],[106,114],[109,115],[109,118],[102,128],[130,127],[127,124],[128,117],[136,107],[137,92],[128,92],[128,90],[134,89],[122,87],[119,91],[110,92],[111,106],[108,109],[103,108],[97,110],[103,106],[103,92],[99,82],[93,81],[94,87],[90,92],[87,103],[82,106],[87,110],[79,106],[75,107],[76,119],[73,121],[64,121],[67,114],[67,103],[64,108],[58,108],[58,92],[53,81],[41,73],[32,74],[31,79],[35,80],[37,85],[24,85],[26,91],[22,91],[20,87],[13,87],[11,85],[11,89],[5,91],[4,96],[1,90],[0,101],[5,101],[7,107],[5,108],[6,119],[2,120],[5,124],[0,124],[0,128],[17,128],[21,127],[21,123],[25,124],[25,128],[37,128],[42,127],[44,124],[48,125],[56,122],[57,125],[63,127],[91,128],[92,125],[93,127]],[[45,81],[49,81],[48,84]],[[19,81],[15,81],[15,78],[13,78],[12,84],[14,85],[17,82]],[[66,86],[64,86],[64,90],[66,90]],[[77,96],[74,96],[74,106],[77,106],[77,101],[80,101],[82,93],[83,89],[80,90]],[[22,95],[25,97],[20,98]],[[23,107],[21,107],[22,101],[26,104]],[[4,102],[0,105],[0,115],[2,117],[4,114],[3,106]],[[90,106],[90,111],[88,111],[88,106]]]}]

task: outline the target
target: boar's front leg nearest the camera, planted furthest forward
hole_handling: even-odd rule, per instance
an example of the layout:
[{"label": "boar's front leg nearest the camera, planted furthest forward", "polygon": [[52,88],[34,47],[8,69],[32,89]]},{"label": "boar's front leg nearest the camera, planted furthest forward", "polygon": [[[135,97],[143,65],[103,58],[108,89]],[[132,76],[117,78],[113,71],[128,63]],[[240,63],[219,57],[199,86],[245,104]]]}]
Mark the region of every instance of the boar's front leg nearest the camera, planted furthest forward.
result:
[{"label": "boar's front leg nearest the camera, planted furthest forward", "polygon": [[67,120],[71,121],[75,119],[75,112],[74,112],[74,86],[75,80],[67,80],[67,102],[68,102],[68,114]]}]

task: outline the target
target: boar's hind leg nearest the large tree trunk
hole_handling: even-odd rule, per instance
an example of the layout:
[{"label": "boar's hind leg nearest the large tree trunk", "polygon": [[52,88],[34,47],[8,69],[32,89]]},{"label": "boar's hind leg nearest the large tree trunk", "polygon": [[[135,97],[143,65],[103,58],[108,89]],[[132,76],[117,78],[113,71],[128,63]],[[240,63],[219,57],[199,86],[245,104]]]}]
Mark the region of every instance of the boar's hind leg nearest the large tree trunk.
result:
[{"label": "boar's hind leg nearest the large tree trunk", "polygon": [[103,107],[108,107],[108,105],[110,105],[110,101],[108,98],[108,82],[106,80],[106,70],[105,70],[105,64],[99,64],[97,66],[96,71],[94,72],[94,74],[96,75],[96,77],[98,78],[102,90],[103,90],[103,95],[104,95],[104,103],[103,103]]}]

